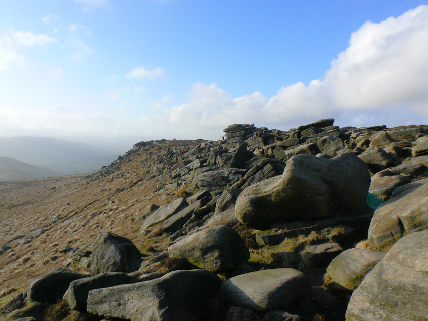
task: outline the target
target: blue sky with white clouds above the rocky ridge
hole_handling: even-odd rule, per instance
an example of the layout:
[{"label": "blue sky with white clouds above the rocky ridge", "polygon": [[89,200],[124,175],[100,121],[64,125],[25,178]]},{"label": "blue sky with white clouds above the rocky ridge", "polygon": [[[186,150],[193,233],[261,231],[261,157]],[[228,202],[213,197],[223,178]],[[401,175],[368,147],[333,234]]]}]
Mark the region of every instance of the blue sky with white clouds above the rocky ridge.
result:
[{"label": "blue sky with white clouds above the rocky ridge", "polygon": [[428,1],[0,4],[0,136],[428,124]]}]

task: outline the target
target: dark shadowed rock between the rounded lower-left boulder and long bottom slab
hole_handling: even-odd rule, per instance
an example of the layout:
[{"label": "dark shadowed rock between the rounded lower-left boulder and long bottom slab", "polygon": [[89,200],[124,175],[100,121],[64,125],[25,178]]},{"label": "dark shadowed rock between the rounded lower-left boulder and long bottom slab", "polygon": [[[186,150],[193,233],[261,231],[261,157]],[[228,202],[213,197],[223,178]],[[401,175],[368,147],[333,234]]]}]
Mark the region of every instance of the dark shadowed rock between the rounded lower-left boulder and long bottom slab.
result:
[{"label": "dark shadowed rock between the rounded lower-left boulder and long bottom slab", "polygon": [[131,276],[119,272],[101,273],[74,280],[65,292],[64,300],[68,302],[71,309],[86,310],[89,291],[128,284],[132,281]]}]

